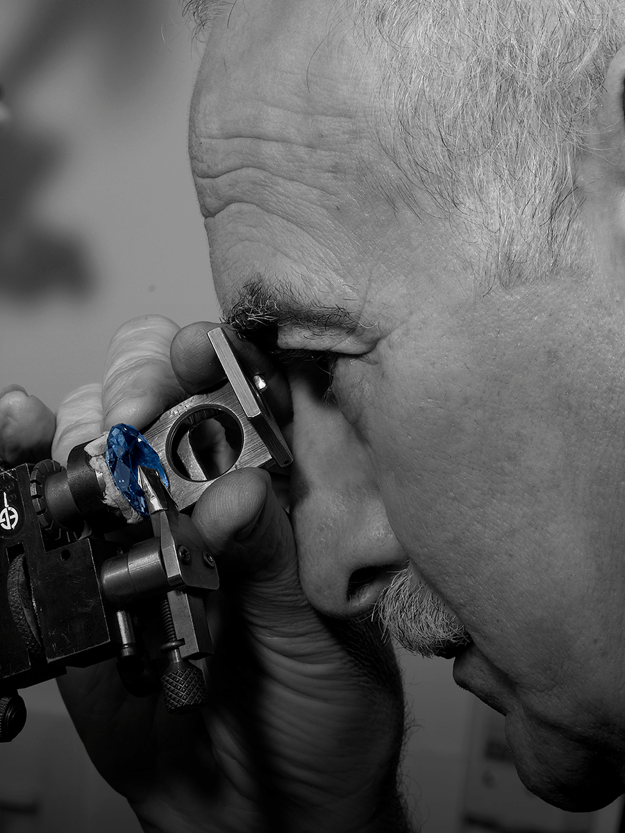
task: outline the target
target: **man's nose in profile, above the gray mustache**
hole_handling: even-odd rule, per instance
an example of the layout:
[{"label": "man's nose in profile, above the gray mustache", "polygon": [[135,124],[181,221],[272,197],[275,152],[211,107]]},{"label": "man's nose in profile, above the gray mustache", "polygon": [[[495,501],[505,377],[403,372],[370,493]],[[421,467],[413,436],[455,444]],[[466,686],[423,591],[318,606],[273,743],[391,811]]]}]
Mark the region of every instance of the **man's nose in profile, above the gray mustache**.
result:
[{"label": "man's nose in profile, above the gray mustache", "polygon": [[292,392],[300,580],[318,611],[353,616],[373,606],[407,556],[388,523],[367,442],[313,386]]}]

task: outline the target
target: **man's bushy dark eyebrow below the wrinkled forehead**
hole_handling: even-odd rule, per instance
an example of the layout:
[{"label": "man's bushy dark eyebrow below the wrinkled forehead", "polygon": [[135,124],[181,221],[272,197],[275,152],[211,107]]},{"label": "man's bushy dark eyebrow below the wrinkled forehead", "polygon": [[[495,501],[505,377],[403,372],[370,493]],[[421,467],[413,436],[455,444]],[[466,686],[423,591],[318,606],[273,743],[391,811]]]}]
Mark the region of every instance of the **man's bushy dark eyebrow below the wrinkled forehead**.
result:
[{"label": "man's bushy dark eyebrow below the wrinkled forehead", "polygon": [[363,326],[357,312],[338,304],[315,304],[288,280],[274,280],[269,284],[262,276],[253,277],[243,286],[225,322],[242,338],[273,342],[273,345],[278,340],[279,327],[306,327],[314,337],[330,329],[350,333]]}]

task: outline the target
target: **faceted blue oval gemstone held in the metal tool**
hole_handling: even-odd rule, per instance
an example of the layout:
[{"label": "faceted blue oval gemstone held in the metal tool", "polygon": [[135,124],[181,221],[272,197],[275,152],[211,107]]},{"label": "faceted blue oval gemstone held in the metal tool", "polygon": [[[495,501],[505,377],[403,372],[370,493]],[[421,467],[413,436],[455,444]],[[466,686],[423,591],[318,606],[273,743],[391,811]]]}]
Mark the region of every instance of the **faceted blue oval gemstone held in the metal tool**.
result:
[{"label": "faceted blue oval gemstone held in the metal tool", "polygon": [[112,426],[108,432],[107,451],[104,458],[119,491],[139,515],[148,517],[148,505],[143,489],[138,484],[137,469],[138,466],[155,469],[164,486],[169,486],[157,452],[136,428],[120,422]]}]

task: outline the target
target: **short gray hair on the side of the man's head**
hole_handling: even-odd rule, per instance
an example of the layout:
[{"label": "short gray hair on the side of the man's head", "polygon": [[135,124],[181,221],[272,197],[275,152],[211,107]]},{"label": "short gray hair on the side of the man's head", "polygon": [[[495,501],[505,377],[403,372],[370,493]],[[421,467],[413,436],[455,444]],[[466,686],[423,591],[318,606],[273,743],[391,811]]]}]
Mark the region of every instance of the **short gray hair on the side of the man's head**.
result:
[{"label": "short gray hair on the side of the man's head", "polygon": [[408,204],[422,211],[425,189],[487,289],[583,268],[576,167],[625,41],[625,3],[353,2],[382,71],[373,117]]}]

